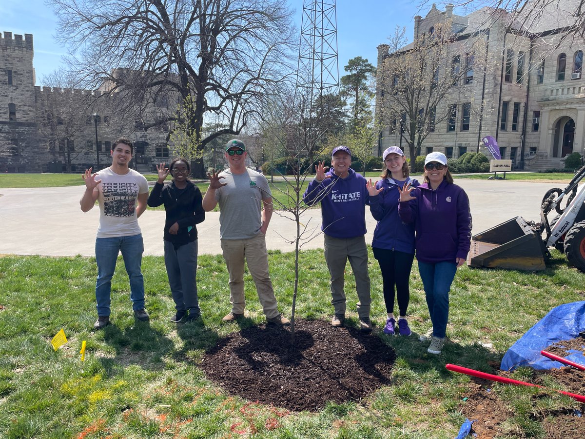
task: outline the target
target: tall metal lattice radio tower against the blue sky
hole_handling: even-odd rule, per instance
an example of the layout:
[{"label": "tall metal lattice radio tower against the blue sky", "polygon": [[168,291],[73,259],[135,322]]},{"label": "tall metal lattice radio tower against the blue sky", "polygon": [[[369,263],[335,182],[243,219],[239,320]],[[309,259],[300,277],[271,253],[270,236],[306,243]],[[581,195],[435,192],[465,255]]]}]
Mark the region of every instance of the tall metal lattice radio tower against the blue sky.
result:
[{"label": "tall metal lattice radio tower against the blue sky", "polygon": [[297,83],[312,97],[339,88],[335,0],[303,0]]}]

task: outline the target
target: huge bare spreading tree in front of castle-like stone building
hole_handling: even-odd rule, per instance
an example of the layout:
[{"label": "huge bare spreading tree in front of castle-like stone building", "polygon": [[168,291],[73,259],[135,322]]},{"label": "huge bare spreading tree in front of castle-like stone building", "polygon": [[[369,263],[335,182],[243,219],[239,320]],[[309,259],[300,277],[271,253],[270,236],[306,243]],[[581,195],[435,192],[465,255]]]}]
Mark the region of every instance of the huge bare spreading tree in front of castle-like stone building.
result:
[{"label": "huge bare spreading tree in front of castle-like stone building", "polygon": [[[204,176],[205,145],[260,118],[273,85],[292,71],[295,32],[284,0],[50,2],[57,35],[70,46],[71,66],[86,87],[124,92],[128,108],[168,96],[176,97],[173,106],[192,102],[196,176]],[[204,136],[209,114],[222,115],[227,127]]]}]

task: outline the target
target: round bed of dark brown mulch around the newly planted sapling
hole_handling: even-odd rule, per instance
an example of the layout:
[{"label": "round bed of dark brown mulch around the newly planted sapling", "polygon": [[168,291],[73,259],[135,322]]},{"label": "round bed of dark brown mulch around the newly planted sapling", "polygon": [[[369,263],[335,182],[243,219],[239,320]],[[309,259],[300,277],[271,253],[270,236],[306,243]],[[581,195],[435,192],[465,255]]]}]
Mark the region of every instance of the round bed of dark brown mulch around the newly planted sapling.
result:
[{"label": "round bed of dark brown mulch around the newly planted sapling", "polygon": [[288,328],[246,328],[206,352],[201,368],[230,393],[294,411],[360,400],[390,383],[394,350],[375,335],[298,319],[295,337],[293,347]]}]

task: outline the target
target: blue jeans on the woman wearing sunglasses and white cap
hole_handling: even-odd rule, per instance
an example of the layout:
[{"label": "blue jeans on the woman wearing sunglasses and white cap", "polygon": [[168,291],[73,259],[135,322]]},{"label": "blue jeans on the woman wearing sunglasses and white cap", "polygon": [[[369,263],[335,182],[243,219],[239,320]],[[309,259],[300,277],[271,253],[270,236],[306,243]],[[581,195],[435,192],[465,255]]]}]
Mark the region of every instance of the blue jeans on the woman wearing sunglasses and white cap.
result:
[{"label": "blue jeans on the woman wearing sunglasses and white cap", "polygon": [[445,338],[447,319],[449,318],[449,290],[457,272],[453,262],[426,263],[418,262],[422,285],[425,289],[426,306],[433,323],[433,335]]}]

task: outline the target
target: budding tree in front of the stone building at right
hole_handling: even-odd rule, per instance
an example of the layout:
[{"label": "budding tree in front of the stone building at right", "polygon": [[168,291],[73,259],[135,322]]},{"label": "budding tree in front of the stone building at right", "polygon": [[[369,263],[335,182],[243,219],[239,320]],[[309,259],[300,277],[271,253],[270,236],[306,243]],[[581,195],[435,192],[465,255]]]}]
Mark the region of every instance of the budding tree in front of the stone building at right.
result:
[{"label": "budding tree in front of the stone building at right", "polygon": [[[445,98],[462,97],[468,91],[461,85],[474,74],[481,76],[488,66],[481,32],[459,41],[451,29],[446,20],[435,26],[433,35],[421,35],[407,44],[404,29],[398,28],[390,37],[388,56],[378,66],[382,92],[377,96],[376,122],[400,133],[408,145],[411,166],[435,125],[452,116]],[[476,109],[483,105],[473,104]]]}]

